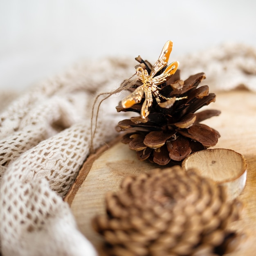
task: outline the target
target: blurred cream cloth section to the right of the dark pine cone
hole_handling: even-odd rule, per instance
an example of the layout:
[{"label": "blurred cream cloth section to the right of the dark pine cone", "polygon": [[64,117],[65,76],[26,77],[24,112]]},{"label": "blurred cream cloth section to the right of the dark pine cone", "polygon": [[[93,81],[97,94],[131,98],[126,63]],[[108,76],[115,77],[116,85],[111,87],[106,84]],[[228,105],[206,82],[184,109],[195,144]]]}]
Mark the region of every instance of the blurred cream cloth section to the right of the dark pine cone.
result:
[{"label": "blurred cream cloth section to the right of the dark pine cone", "polygon": [[256,48],[242,43],[223,43],[218,47],[184,55],[178,59],[182,78],[204,72],[204,84],[217,90],[244,86],[256,91]]}]

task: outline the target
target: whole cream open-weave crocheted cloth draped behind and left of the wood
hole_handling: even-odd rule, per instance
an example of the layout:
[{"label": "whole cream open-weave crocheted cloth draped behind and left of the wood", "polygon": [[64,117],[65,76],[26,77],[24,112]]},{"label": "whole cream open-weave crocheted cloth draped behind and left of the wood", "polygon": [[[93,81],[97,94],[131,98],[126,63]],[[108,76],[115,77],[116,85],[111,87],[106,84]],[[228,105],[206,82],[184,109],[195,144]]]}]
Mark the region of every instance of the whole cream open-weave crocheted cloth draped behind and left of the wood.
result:
[{"label": "whole cream open-weave crocheted cloth draped behind and left of the wood", "polygon": [[[225,90],[243,83],[256,90],[255,50],[238,45],[221,49],[179,59],[182,75],[203,71],[211,88]],[[81,63],[19,97],[14,95],[14,100],[7,92],[0,94],[3,256],[96,255],[62,198],[89,154],[95,96],[117,88],[135,72],[134,65],[124,58]],[[103,102],[94,148],[116,135],[115,126],[124,116],[115,106],[123,96]]]}]

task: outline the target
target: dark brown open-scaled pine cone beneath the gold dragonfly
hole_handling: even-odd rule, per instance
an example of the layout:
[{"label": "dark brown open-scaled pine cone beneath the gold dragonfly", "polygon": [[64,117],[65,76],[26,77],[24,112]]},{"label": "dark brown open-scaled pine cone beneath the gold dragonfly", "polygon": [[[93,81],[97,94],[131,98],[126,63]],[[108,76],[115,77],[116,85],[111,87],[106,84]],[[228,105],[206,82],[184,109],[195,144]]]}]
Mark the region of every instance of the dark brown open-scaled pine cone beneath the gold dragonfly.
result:
[{"label": "dark brown open-scaled pine cone beneath the gold dragonfly", "polygon": [[[150,72],[148,66],[147,69]],[[204,73],[195,74],[182,81],[180,71],[177,70],[168,81],[159,85],[162,88],[160,93],[166,98],[173,97],[174,101],[159,105],[154,99],[146,122],[139,122],[139,118],[132,117],[118,123],[117,130],[129,132],[122,142],[137,151],[140,160],[149,159],[159,165],[166,165],[170,161],[173,165],[180,164],[189,154],[217,144],[220,134],[200,122],[219,115],[220,111],[204,110],[195,113],[216,98],[214,93],[209,93],[207,85],[197,88],[202,79],[205,79]],[[137,88],[139,85],[141,83],[137,82],[134,86]],[[185,98],[175,101],[175,97]],[[144,100],[127,109],[120,103],[116,108],[118,112],[139,113],[143,102]]]}]

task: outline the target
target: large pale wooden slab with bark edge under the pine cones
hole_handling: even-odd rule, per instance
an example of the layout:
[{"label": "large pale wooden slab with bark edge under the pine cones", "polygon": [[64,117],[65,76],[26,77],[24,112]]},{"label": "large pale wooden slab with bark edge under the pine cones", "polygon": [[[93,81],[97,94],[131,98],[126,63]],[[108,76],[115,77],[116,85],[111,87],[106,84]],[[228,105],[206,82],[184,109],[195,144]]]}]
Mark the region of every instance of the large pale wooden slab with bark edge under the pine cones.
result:
[{"label": "large pale wooden slab with bark edge under the pine cones", "polygon": [[[219,117],[204,123],[220,132],[215,148],[229,148],[241,153],[247,160],[247,182],[239,196],[244,203],[241,220],[233,227],[243,231],[246,239],[232,256],[254,255],[256,251],[256,94],[247,90],[234,90],[217,94],[215,103],[206,108],[221,110]],[[205,108],[204,108],[205,109]],[[101,252],[101,237],[91,227],[91,219],[104,213],[104,197],[107,191],[117,191],[121,180],[129,174],[139,174],[159,167],[137,160],[136,153],[120,142],[104,153],[106,148],[92,156],[81,169],[80,178],[70,191],[66,201],[76,218],[81,232]],[[223,170],[225,171],[225,170]],[[80,179],[80,180],[79,180]]]}]

